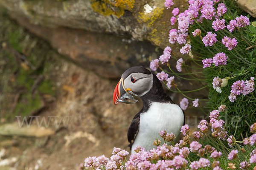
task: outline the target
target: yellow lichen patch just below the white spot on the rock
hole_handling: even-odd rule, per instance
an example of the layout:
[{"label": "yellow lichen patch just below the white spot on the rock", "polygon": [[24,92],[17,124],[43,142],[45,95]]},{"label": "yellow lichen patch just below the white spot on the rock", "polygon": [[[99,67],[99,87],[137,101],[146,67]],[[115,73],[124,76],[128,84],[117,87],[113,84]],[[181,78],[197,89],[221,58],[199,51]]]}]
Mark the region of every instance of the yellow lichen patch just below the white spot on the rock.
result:
[{"label": "yellow lichen patch just below the white spot on the rock", "polygon": [[[160,18],[163,14],[164,8],[155,8],[151,13],[145,14],[143,12],[139,12],[139,18],[144,23],[148,23],[148,26],[153,26],[155,20]],[[138,20],[140,22],[140,20]]]}]

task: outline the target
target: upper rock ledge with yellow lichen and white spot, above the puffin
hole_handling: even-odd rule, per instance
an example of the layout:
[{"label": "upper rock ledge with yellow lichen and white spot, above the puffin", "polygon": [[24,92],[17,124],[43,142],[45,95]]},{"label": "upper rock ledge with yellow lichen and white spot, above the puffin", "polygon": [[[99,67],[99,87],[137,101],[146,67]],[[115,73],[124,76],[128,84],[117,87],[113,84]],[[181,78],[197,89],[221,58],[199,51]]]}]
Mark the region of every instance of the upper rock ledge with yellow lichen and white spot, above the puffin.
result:
[{"label": "upper rock ledge with yellow lichen and white spot, above the puffin", "polygon": [[[164,0],[2,0],[9,11],[43,26],[65,26],[94,32],[130,35],[165,47],[172,10]],[[183,1],[175,0],[175,7]],[[182,8],[181,8],[182,10]]]}]

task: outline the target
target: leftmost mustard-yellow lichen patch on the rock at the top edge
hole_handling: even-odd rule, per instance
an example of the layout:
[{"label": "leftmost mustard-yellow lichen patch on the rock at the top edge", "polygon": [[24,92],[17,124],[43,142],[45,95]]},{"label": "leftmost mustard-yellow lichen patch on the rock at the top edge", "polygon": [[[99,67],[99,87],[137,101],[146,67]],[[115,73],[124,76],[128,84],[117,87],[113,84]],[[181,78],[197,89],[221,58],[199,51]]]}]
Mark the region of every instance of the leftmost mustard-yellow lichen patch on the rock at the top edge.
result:
[{"label": "leftmost mustard-yellow lichen patch on the rock at the top edge", "polygon": [[124,10],[121,7],[112,6],[109,0],[91,0],[91,8],[93,11],[108,16],[108,15],[116,15],[116,17],[120,17],[124,14]]}]

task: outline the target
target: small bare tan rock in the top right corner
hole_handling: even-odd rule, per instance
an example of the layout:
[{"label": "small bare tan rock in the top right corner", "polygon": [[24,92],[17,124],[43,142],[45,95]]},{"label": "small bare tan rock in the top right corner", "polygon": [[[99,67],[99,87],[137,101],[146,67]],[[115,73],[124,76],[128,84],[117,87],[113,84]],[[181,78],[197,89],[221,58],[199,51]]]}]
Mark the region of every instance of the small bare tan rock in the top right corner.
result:
[{"label": "small bare tan rock in the top right corner", "polygon": [[238,0],[240,8],[256,18],[256,0]]}]

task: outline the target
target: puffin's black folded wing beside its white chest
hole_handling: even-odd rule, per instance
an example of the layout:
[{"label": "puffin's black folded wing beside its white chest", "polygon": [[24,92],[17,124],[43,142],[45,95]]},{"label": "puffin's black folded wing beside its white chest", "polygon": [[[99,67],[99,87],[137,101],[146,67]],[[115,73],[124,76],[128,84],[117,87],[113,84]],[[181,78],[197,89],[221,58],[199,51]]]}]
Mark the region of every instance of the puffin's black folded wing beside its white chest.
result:
[{"label": "puffin's black folded wing beside its white chest", "polygon": [[[128,138],[128,142],[130,142],[130,144],[128,145],[131,149],[131,146],[134,142],[135,137],[137,136],[137,133],[139,131],[139,127],[140,127],[140,114],[142,113],[143,110],[141,110],[139,113],[137,113],[132,122],[131,125],[128,129],[128,133],[127,133],[127,138]],[[133,142],[132,142],[133,141]]]}]

